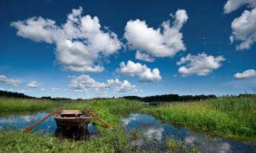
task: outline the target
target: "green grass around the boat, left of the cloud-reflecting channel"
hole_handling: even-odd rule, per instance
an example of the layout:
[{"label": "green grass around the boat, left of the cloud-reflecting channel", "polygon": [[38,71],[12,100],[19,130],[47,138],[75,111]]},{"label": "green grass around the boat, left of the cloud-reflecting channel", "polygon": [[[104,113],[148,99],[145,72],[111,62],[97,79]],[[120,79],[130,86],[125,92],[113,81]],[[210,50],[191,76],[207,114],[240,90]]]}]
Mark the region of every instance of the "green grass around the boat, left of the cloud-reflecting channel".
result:
[{"label": "green grass around the boat, left of the cloud-reflecting channel", "polygon": [[[1,109],[4,107],[10,111],[14,110],[40,110],[45,101],[30,101],[29,106],[23,109],[9,102],[14,99],[2,100]],[[26,100],[19,100],[18,102]],[[48,101],[44,110],[50,112],[55,107],[62,106],[63,109],[80,109],[91,107],[94,100],[79,101],[72,103],[56,103]],[[31,109],[33,107],[33,109]],[[91,141],[74,141],[72,139],[59,139],[53,135],[39,135],[37,133],[21,133],[21,131],[0,131],[0,152],[131,152],[131,146],[128,134],[124,129],[120,119],[122,115],[141,109],[143,104],[139,101],[127,101],[124,99],[105,99],[97,101],[93,107],[95,114],[108,122],[115,131],[109,131],[102,126],[97,120],[93,120],[96,128],[100,131],[101,136]]]}]

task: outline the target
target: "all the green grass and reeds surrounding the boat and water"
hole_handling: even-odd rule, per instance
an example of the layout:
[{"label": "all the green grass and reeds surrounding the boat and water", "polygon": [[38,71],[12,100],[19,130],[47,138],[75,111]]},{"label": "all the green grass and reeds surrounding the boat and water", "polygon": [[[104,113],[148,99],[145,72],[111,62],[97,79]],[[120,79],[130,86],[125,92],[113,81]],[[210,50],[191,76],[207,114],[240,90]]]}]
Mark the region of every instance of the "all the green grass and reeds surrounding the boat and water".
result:
[{"label": "all the green grass and reeds surrounding the boat and water", "polygon": [[[90,107],[92,103],[94,100],[58,103],[40,99],[0,98],[0,112],[1,114],[27,111],[51,112],[59,106],[63,109],[83,110],[83,107]],[[130,112],[152,114],[166,122],[182,124],[191,129],[210,131],[226,137],[250,141],[256,139],[256,97],[223,97],[205,101],[170,103],[158,107],[125,99],[101,99],[94,105],[93,110],[111,124],[115,131],[104,129],[97,120],[93,122],[101,136],[91,141],[59,139],[53,135],[42,136],[37,133],[23,134],[20,131],[0,131],[0,152],[131,152],[128,135],[133,135],[133,139],[138,139],[139,136],[136,131],[127,133],[121,123],[122,116]],[[175,152],[181,147],[177,144],[179,143],[172,139],[168,140],[166,146],[169,152]],[[137,148],[136,151],[143,152],[141,148]],[[187,152],[198,151],[193,149]]]}]

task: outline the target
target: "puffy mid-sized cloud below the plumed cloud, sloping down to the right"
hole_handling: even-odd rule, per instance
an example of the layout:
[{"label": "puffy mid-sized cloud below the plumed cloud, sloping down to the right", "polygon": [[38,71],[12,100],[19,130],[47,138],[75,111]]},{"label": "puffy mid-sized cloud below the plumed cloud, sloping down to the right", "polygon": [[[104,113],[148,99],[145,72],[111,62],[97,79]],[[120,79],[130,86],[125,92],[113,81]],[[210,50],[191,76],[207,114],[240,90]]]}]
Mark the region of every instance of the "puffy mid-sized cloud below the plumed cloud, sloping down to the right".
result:
[{"label": "puffy mid-sized cloud below the plumed cloud, sloping down to the right", "polygon": [[141,65],[141,63],[134,63],[132,61],[128,61],[127,64],[124,62],[120,63],[120,68],[117,71],[124,75],[137,75],[140,82],[158,82],[162,79],[157,68],[151,70],[147,68],[147,65]]}]

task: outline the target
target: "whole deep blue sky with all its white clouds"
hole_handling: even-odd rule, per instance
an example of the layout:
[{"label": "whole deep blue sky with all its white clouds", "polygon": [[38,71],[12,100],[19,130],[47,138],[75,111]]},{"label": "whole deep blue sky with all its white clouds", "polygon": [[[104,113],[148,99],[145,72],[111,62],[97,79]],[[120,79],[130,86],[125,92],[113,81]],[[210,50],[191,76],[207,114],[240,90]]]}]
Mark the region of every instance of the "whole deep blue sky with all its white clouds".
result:
[{"label": "whole deep blue sky with all its white clouds", "polygon": [[0,2],[0,90],[238,95],[256,86],[256,1]]}]

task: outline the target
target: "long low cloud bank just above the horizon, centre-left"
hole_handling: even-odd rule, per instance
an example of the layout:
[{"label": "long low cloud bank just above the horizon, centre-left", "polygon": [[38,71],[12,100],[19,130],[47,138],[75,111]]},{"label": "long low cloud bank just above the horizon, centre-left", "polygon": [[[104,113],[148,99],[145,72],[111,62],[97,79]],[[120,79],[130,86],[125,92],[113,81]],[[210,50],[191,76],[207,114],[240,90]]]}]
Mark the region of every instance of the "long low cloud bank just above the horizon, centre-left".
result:
[{"label": "long low cloud bank just above the horizon, centre-left", "polygon": [[70,82],[70,88],[78,92],[88,92],[90,88],[94,88],[97,93],[106,93],[107,90],[113,89],[114,92],[139,92],[135,85],[130,84],[127,80],[123,82],[119,79],[106,80],[104,82],[96,82],[89,75],[80,75],[79,77],[72,77]]}]

